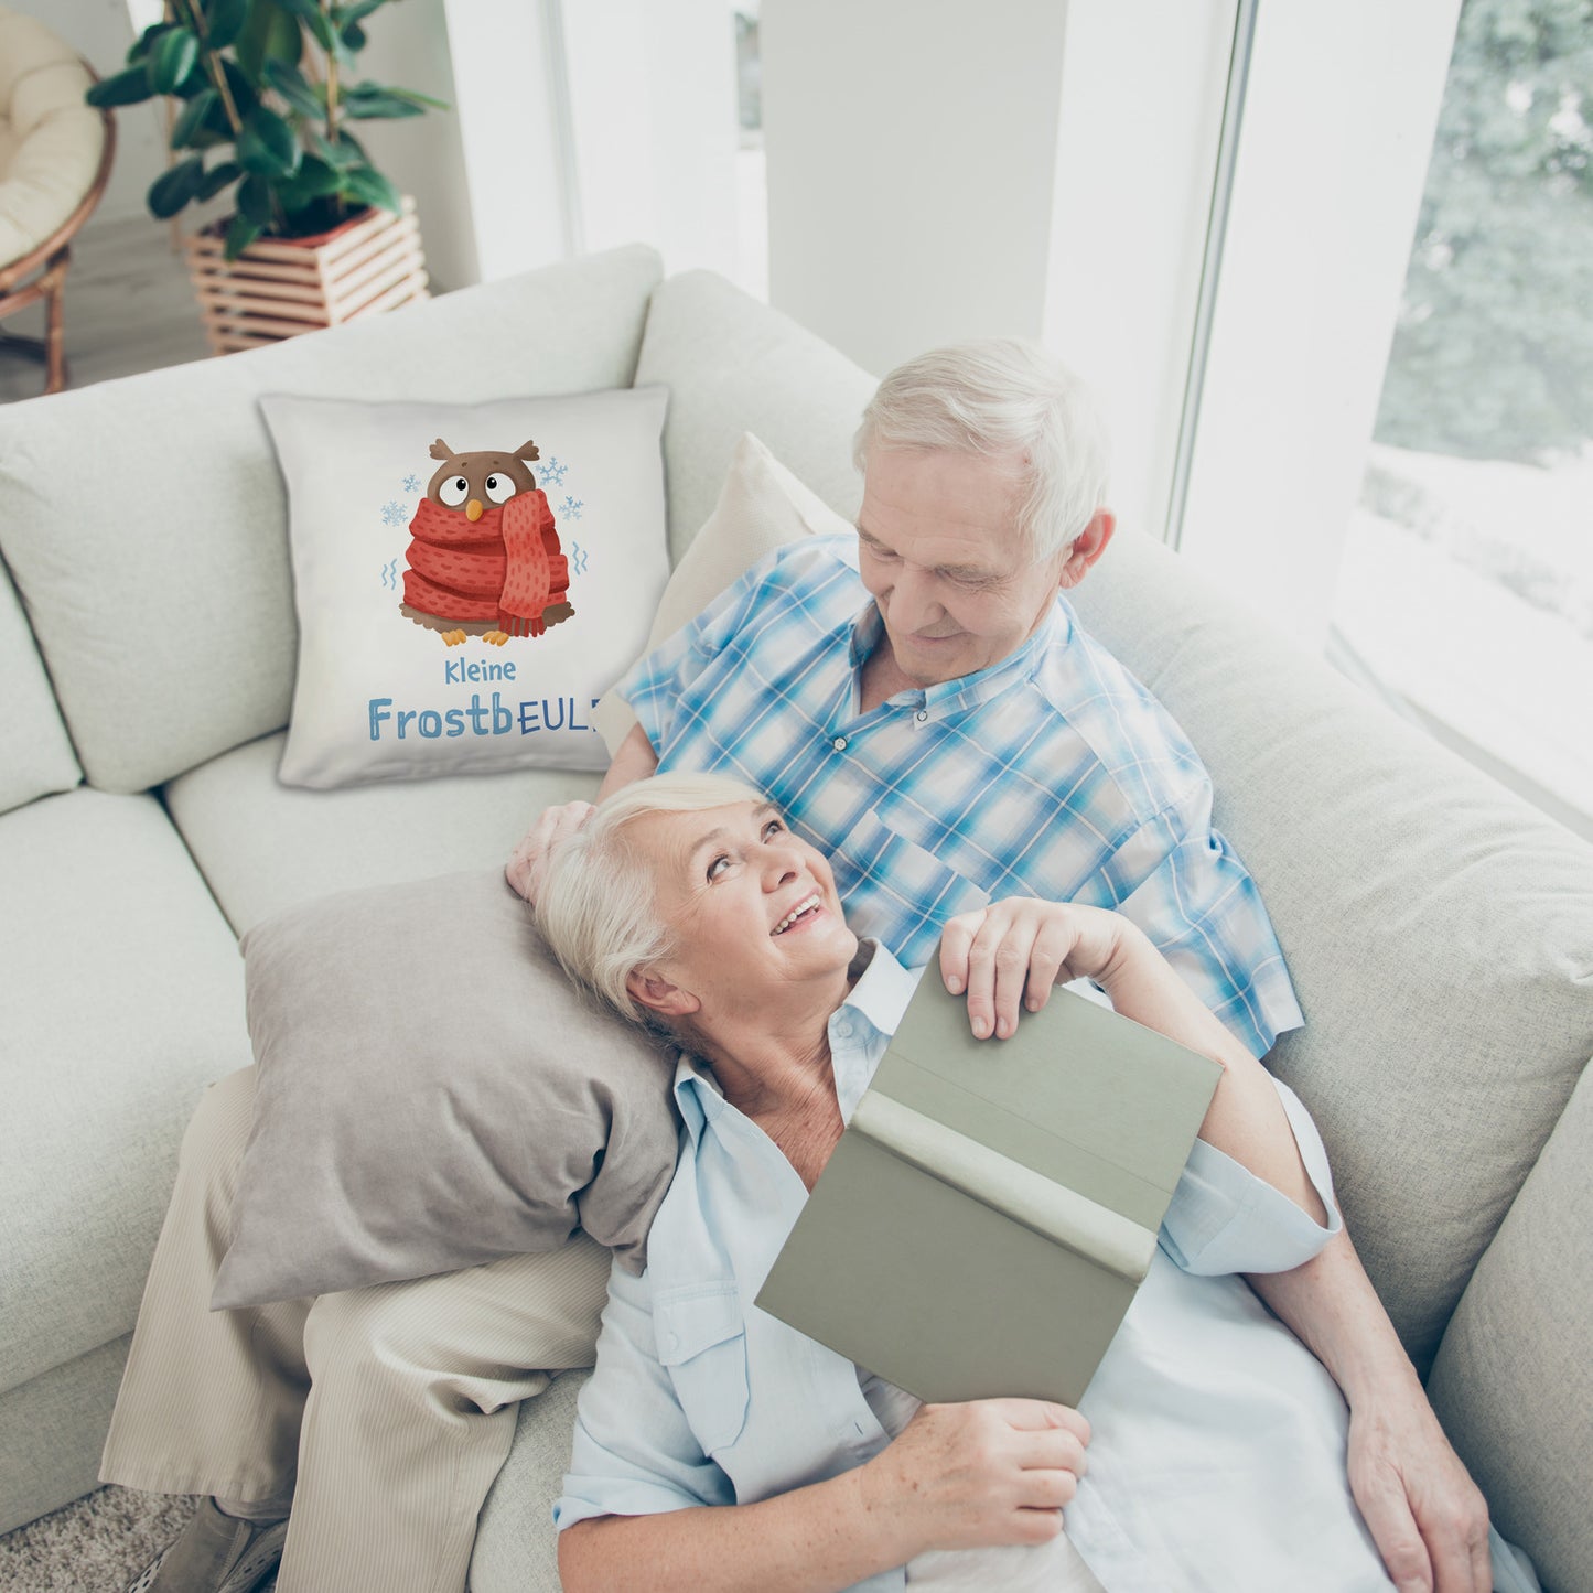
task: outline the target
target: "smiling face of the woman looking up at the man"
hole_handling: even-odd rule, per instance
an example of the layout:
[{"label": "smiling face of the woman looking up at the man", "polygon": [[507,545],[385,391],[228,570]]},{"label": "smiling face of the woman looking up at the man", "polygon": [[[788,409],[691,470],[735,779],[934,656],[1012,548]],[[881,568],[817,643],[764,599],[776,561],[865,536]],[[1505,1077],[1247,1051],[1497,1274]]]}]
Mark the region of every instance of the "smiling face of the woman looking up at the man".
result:
[{"label": "smiling face of the woman looking up at the man", "polygon": [[828,991],[857,953],[835,875],[769,803],[655,812],[628,827],[652,863],[675,954],[655,970],[709,1018],[782,991]]}]

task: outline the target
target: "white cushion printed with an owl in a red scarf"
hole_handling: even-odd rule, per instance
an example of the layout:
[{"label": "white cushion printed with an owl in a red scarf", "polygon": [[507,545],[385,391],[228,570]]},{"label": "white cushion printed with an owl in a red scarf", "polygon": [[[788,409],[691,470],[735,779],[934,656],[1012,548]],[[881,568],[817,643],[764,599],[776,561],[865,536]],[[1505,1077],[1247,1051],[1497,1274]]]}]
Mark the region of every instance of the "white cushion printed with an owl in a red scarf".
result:
[{"label": "white cushion printed with an owl in a red scarf", "polygon": [[604,768],[593,707],[669,578],[666,398],[263,397],[299,620],[279,779]]}]

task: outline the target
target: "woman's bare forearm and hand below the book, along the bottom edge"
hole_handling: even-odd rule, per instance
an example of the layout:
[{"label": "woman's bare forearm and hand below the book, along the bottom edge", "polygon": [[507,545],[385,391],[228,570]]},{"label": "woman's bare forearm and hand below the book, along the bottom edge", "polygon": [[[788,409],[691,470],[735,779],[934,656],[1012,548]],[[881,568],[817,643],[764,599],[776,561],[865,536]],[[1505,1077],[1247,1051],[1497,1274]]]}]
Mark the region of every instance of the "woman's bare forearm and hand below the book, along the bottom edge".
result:
[{"label": "woman's bare forearm and hand below the book, along the bottom edge", "polygon": [[559,1537],[566,1593],[835,1593],[927,1548],[1043,1544],[1085,1470],[1064,1405],[924,1405],[865,1466],[758,1504],[605,1515]]}]

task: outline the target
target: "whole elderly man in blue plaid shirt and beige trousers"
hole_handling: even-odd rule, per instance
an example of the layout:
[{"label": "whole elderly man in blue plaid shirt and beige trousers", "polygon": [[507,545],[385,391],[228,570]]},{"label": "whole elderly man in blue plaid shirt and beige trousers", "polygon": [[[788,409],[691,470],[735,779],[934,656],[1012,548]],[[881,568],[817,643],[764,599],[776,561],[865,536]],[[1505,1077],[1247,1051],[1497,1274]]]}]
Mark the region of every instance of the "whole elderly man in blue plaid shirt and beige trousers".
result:
[{"label": "whole elderly man in blue plaid shirt and beige trousers", "polygon": [[[765,561],[621,682],[640,725],[602,793],[671,766],[768,790],[902,962],[997,897],[1115,906],[1263,1055],[1300,1012],[1206,773],[1061,597],[1114,529],[1077,382],[1020,344],[929,355],[881,384],[859,462],[855,543]],[[586,811],[537,820],[524,894]],[[970,1015],[1005,1032],[988,983]],[[515,1403],[591,1364],[607,1254],[577,1238],[323,1297],[309,1322],[303,1301],[210,1314],[249,1126],[228,1085],[185,1142],[102,1467],[212,1496],[139,1587],[234,1593],[280,1552],[279,1593],[459,1593]],[[1351,1481],[1400,1587],[1485,1590],[1486,1510],[1348,1238],[1257,1289],[1349,1399]]]}]

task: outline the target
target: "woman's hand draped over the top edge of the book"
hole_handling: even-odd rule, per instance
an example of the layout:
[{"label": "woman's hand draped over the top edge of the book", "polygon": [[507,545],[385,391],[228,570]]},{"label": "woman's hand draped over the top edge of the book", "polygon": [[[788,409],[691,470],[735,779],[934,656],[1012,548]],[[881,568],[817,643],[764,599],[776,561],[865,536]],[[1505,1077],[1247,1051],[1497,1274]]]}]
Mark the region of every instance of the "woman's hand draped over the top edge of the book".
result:
[{"label": "woman's hand draped over the top edge of the book", "polygon": [[1107,983],[1139,933],[1104,908],[1008,897],[946,924],[940,975],[953,996],[969,992],[973,1034],[1005,1040],[1018,1027],[1020,1004],[1039,1012],[1051,986],[1067,980]]}]

